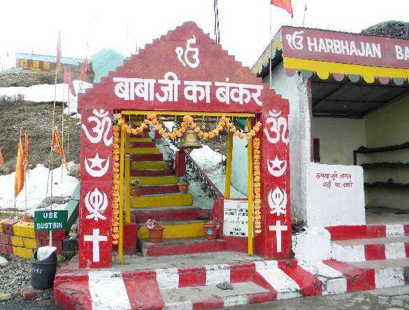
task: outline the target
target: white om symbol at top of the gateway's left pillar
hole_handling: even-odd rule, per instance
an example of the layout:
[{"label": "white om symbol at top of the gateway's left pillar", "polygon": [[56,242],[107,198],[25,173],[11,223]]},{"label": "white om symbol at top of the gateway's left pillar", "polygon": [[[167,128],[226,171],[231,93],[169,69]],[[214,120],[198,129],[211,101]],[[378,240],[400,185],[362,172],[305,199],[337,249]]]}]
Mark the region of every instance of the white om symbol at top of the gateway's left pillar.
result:
[{"label": "white om symbol at top of the gateway's left pillar", "polygon": [[92,136],[91,134],[89,134],[89,131],[84,124],[82,124],[82,129],[84,129],[85,135],[87,135],[87,138],[91,143],[98,143],[103,137],[103,142],[107,147],[109,147],[112,144],[112,136],[108,138],[108,133],[112,121],[110,117],[108,117],[108,111],[105,112],[101,109],[98,112],[96,109],[94,109],[94,111],[92,112],[95,116],[88,117],[88,121],[89,123],[95,123],[94,128],[92,128],[92,132],[96,133],[96,135]]}]

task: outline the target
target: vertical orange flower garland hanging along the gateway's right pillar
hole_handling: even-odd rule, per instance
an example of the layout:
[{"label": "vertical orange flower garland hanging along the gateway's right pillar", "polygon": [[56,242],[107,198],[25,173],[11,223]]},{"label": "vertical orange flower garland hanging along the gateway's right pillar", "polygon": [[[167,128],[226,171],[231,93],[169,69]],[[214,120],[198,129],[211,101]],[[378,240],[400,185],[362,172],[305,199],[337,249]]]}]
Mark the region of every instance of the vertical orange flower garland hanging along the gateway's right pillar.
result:
[{"label": "vertical orange flower garland hanging along the gateway's right pillar", "polygon": [[260,139],[253,140],[253,180],[254,180],[254,232],[261,232],[261,174],[260,174]]}]

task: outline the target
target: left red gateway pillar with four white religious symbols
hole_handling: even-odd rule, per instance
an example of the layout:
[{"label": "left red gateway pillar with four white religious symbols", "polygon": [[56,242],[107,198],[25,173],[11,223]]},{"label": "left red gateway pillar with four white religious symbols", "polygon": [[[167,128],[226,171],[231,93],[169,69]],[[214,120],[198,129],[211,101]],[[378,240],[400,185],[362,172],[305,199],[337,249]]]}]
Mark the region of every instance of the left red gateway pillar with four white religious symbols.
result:
[{"label": "left red gateway pillar with four white religious symbols", "polygon": [[82,109],[80,267],[112,262],[112,117],[112,110]]}]

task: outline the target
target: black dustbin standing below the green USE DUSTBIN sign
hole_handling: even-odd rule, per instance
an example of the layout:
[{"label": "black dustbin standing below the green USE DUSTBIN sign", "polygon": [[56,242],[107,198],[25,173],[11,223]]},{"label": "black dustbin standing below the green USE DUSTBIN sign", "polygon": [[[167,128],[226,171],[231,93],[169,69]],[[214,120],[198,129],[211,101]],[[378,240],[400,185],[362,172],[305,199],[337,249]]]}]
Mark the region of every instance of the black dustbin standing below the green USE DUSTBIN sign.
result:
[{"label": "black dustbin standing below the green USE DUSTBIN sign", "polygon": [[31,286],[44,290],[52,288],[54,283],[55,271],[57,270],[57,254],[51,253],[45,260],[37,260],[37,250],[34,252],[34,257],[30,260],[31,263]]}]

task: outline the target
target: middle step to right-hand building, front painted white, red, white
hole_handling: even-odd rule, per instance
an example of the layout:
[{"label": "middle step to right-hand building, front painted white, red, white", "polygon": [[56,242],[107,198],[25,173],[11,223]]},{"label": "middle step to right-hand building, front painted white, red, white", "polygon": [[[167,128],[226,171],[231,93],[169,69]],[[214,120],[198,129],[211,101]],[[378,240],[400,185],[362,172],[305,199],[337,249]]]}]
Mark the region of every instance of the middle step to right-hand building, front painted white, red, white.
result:
[{"label": "middle step to right-hand building, front painted white, red, white", "polygon": [[339,262],[385,260],[408,256],[409,236],[331,242],[331,257]]}]

